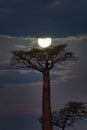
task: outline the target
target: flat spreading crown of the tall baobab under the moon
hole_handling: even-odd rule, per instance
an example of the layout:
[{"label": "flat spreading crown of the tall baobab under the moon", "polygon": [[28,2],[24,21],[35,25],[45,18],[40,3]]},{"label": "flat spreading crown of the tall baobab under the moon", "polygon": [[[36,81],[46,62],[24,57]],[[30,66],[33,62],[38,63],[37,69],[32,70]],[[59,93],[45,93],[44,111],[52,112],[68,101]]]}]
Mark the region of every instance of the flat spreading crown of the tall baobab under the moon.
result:
[{"label": "flat spreading crown of the tall baobab under the moon", "polygon": [[45,68],[49,70],[56,63],[63,63],[68,60],[75,60],[74,53],[67,48],[67,44],[50,46],[47,48],[32,48],[28,51],[14,50],[12,64],[22,64],[27,68],[36,69],[43,72]]}]

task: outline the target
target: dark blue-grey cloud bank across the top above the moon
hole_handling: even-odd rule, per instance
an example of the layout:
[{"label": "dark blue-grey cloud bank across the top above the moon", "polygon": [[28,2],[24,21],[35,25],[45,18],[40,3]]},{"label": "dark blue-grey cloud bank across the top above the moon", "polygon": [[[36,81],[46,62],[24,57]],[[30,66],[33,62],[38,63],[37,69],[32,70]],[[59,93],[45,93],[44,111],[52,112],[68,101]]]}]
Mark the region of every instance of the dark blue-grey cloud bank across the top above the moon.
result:
[{"label": "dark blue-grey cloud bank across the top above the moon", "polygon": [[0,34],[65,36],[87,33],[85,0],[0,1]]}]

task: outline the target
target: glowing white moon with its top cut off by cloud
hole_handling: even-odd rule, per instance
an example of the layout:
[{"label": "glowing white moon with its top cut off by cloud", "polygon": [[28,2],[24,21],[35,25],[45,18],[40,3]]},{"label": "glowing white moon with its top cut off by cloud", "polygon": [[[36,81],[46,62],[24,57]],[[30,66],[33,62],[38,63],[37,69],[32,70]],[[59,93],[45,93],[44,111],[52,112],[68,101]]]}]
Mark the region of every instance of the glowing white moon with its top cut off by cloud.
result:
[{"label": "glowing white moon with its top cut off by cloud", "polygon": [[38,38],[38,44],[40,47],[46,48],[51,45],[51,38]]}]

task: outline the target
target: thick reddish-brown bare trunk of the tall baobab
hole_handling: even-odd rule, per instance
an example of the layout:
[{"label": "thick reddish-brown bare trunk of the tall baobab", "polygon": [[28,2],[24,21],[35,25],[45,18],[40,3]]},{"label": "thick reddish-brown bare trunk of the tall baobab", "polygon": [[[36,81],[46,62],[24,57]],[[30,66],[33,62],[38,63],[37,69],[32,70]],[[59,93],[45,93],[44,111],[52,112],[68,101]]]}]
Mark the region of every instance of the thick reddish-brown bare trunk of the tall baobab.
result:
[{"label": "thick reddish-brown bare trunk of the tall baobab", "polygon": [[46,69],[43,72],[42,130],[53,130],[50,102],[50,74]]}]

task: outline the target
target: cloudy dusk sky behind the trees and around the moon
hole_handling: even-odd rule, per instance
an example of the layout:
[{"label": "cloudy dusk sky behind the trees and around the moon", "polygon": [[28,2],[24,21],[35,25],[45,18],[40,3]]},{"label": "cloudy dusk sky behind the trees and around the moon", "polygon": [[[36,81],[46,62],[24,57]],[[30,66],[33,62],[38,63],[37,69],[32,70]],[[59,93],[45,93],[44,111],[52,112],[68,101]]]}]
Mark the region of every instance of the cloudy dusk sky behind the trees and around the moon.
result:
[{"label": "cloudy dusk sky behind the trees and around the moon", "polygon": [[[41,130],[42,74],[10,65],[12,50],[38,47],[39,37],[67,43],[78,57],[50,72],[52,111],[87,102],[87,1],[0,0],[0,130]],[[73,129],[86,130],[87,119]]]}]

